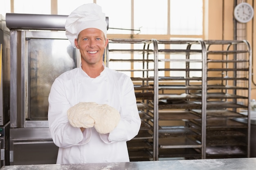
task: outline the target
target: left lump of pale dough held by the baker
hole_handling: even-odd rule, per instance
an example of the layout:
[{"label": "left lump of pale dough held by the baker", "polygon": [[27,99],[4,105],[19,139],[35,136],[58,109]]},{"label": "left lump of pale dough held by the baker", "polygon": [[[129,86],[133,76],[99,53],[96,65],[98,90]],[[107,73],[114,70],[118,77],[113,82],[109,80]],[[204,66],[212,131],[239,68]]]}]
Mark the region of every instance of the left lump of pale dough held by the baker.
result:
[{"label": "left lump of pale dough held by the baker", "polygon": [[90,116],[93,112],[94,102],[80,102],[67,110],[67,118],[70,124],[76,128],[92,128],[94,119]]}]

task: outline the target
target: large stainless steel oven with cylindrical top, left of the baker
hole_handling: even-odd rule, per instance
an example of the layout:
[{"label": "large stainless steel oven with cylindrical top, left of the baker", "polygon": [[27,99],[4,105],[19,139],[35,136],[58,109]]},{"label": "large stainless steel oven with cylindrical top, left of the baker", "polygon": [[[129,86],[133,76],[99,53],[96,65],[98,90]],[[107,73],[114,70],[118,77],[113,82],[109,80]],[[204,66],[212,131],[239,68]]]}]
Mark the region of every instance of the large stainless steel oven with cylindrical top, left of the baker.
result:
[{"label": "large stainless steel oven with cylindrical top, left of the baker", "polygon": [[7,13],[10,29],[10,164],[56,163],[47,121],[54,79],[79,65],[65,15]]}]

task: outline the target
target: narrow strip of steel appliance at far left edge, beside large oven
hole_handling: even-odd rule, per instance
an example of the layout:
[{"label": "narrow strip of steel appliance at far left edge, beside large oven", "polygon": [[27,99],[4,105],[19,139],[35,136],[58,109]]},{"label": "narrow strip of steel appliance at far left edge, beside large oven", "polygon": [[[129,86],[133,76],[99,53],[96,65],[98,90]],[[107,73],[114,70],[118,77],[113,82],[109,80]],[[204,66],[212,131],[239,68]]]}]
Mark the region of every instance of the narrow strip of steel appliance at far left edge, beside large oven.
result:
[{"label": "narrow strip of steel appliance at far left edge, beside large oven", "polygon": [[9,165],[10,31],[0,15],[0,167]]}]

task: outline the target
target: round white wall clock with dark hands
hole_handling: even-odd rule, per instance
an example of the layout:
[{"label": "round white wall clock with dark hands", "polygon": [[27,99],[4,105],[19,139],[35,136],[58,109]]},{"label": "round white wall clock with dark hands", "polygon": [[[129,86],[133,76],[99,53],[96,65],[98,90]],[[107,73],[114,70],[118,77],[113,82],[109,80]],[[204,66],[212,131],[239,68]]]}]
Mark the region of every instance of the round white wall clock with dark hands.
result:
[{"label": "round white wall clock with dark hands", "polygon": [[254,16],[254,9],[253,7],[246,3],[238,4],[234,9],[234,17],[238,22],[246,23],[252,20]]}]

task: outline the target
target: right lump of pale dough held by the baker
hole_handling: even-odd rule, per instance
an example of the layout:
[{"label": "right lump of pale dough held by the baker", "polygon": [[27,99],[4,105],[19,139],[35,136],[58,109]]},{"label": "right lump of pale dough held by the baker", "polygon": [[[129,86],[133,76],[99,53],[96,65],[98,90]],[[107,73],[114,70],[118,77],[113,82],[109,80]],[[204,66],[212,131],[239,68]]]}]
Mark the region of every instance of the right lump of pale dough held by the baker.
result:
[{"label": "right lump of pale dough held by the baker", "polygon": [[99,104],[91,117],[95,121],[94,128],[101,134],[110,133],[120,121],[119,111],[108,104]]}]

